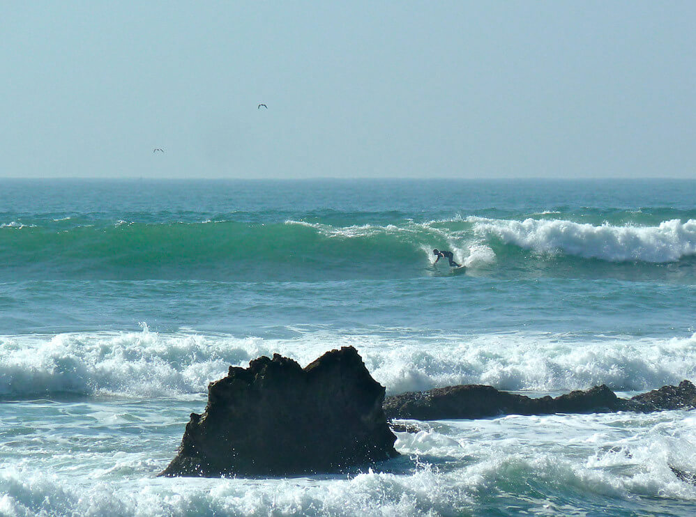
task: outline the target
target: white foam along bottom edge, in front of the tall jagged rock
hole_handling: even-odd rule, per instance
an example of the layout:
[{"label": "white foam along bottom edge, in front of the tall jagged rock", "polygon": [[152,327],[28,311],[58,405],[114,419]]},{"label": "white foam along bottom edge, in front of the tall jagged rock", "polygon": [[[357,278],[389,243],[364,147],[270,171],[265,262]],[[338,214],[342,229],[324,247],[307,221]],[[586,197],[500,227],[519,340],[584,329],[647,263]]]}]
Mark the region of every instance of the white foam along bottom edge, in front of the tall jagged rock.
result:
[{"label": "white foam along bottom edge, in front of the tall jagged rock", "polygon": [[[437,472],[365,472],[351,479],[141,479],[126,487],[76,484],[20,470],[0,474],[0,512],[9,516],[437,516],[469,498]],[[462,497],[463,496],[463,497]],[[454,512],[454,513],[453,513]]]}]

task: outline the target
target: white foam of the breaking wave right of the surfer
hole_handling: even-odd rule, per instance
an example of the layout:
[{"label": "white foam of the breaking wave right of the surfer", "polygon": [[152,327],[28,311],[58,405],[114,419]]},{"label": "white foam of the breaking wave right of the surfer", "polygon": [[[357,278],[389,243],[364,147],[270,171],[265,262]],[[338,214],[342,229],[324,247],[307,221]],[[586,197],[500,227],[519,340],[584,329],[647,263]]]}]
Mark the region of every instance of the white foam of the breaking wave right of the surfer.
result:
[{"label": "white foam of the breaking wave right of the surfer", "polygon": [[562,219],[524,221],[469,217],[474,233],[483,239],[499,238],[506,244],[540,254],[564,253],[612,262],[664,263],[696,254],[696,221],[672,219],[659,226],[580,224]]}]

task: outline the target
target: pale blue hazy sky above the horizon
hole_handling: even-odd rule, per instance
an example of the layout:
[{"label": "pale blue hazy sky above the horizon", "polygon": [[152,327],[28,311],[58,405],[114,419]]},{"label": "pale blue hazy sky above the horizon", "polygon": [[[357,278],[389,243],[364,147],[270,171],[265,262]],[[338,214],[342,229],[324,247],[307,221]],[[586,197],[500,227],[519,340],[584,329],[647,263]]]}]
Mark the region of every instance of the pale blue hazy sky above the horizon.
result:
[{"label": "pale blue hazy sky above the horizon", "polygon": [[1,1],[0,176],[696,178],[695,26],[693,1]]}]

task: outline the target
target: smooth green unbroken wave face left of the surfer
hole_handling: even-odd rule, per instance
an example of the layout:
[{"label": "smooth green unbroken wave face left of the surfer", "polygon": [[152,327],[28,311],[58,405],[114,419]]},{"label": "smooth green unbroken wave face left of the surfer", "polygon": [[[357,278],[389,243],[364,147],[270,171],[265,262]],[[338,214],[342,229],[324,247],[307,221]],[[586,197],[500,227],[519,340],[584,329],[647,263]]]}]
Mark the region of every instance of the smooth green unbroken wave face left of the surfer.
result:
[{"label": "smooth green unbroken wave face left of the surfer", "polygon": [[[66,231],[7,228],[0,259],[34,277],[288,279],[427,263],[434,233],[398,227],[218,222],[121,224]],[[432,233],[432,232],[431,232]],[[355,273],[354,273],[355,274]]]}]

